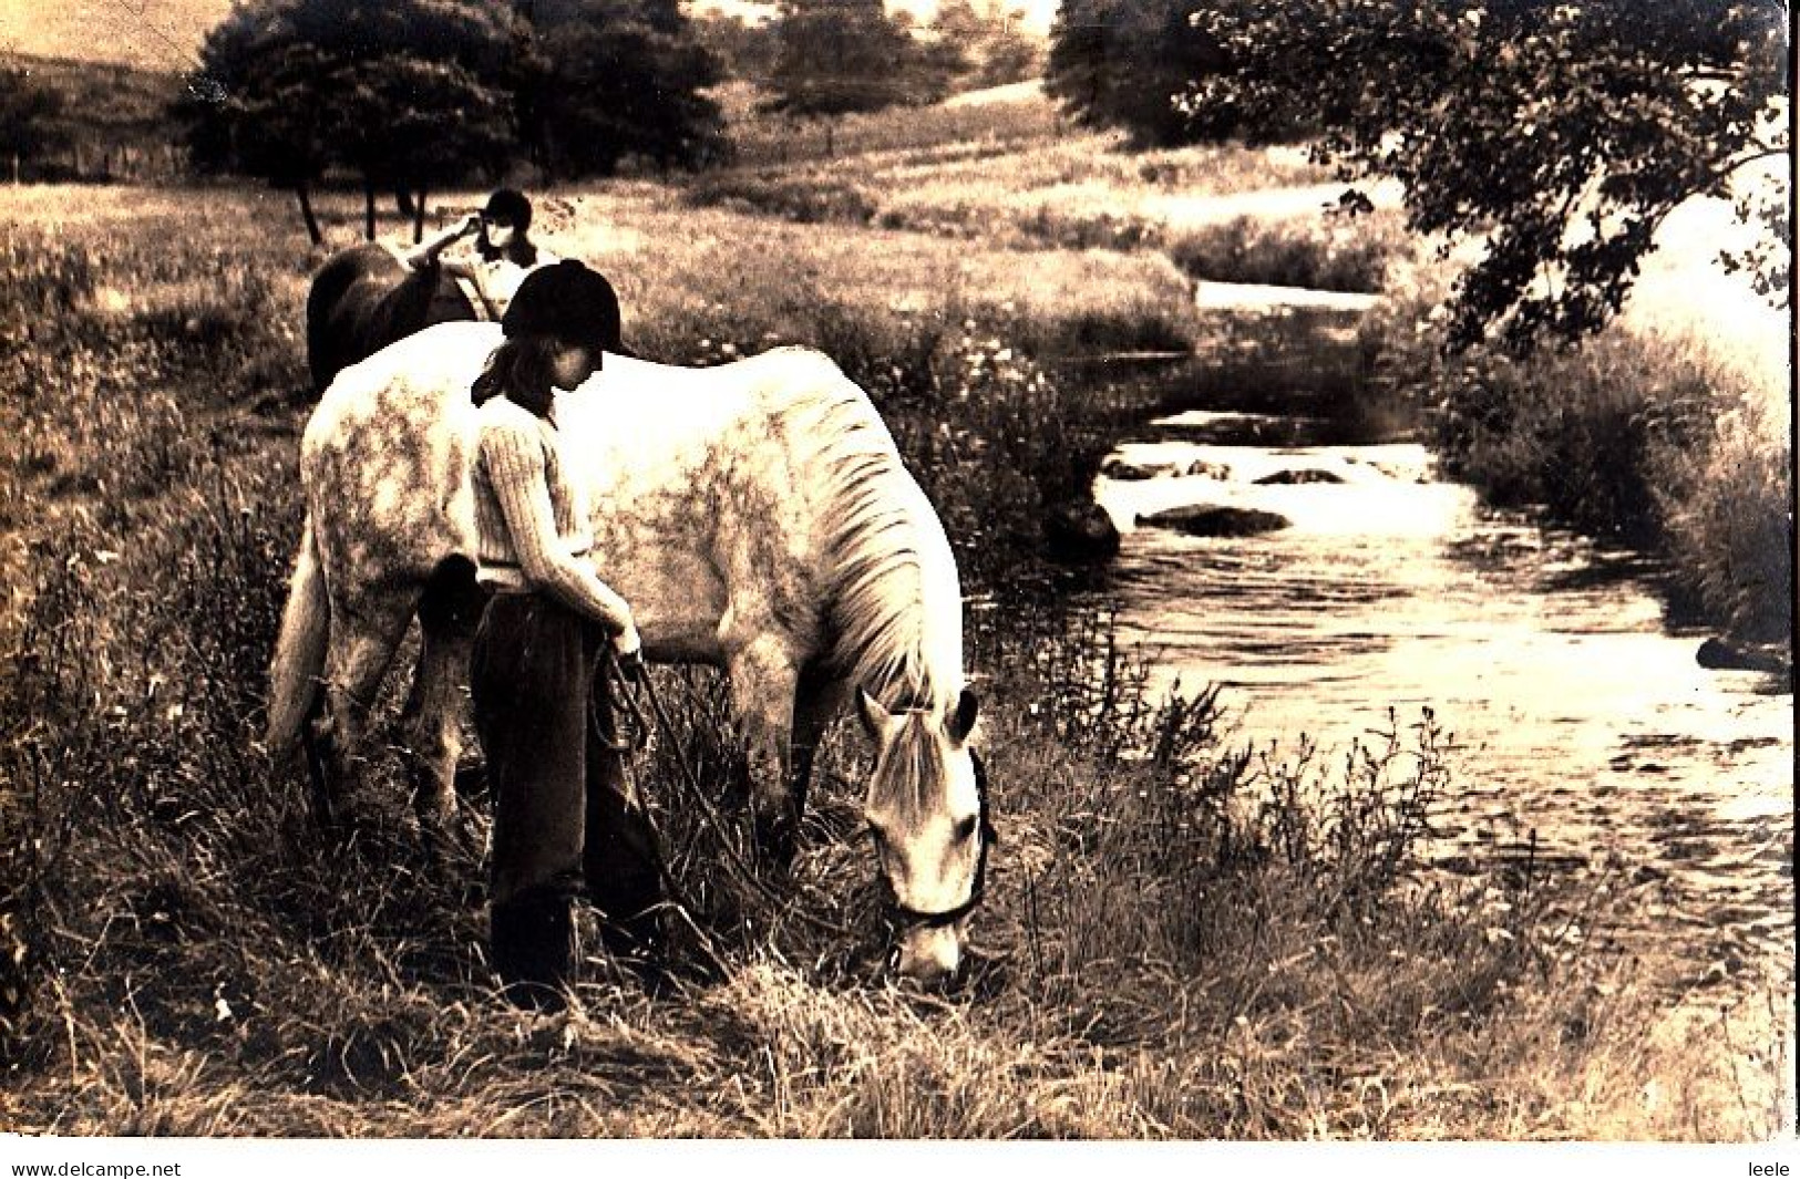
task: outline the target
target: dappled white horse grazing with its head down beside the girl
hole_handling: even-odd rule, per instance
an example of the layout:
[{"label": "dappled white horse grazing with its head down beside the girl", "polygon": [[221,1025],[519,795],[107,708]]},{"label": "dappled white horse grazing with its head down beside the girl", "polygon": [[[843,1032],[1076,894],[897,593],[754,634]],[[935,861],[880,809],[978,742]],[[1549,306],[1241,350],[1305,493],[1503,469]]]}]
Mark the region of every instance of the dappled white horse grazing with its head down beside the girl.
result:
[{"label": "dappled white horse grazing with its head down beside the girl", "polygon": [[[308,518],[270,668],[268,745],[324,689],[337,788],[407,626],[423,632],[407,745],[427,815],[454,808],[472,623],[470,383],[495,324],[441,324],[338,374],[306,427]],[[931,502],[868,396],[826,356],[715,369],[607,356],[560,394],[594,563],[652,662],[724,668],[760,833],[792,839],[814,747],[855,697],[875,745],[864,817],[902,922],[895,965],[954,974],[992,844],[970,749],[961,589]],[[790,848],[790,842],[788,842]]]}]

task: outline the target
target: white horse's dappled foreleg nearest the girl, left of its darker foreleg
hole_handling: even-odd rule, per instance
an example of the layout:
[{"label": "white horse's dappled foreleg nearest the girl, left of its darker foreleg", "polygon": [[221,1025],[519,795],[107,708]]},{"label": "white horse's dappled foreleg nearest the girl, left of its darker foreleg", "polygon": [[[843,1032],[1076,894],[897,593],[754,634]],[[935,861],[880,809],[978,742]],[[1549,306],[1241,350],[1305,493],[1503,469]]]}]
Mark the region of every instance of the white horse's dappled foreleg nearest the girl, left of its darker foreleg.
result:
[{"label": "white horse's dappled foreleg nearest the girl, left of its darker foreleg", "polygon": [[799,815],[790,792],[794,688],[799,668],[787,644],[763,635],[727,659],[731,707],[751,767],[756,842],[778,866],[794,860]]}]

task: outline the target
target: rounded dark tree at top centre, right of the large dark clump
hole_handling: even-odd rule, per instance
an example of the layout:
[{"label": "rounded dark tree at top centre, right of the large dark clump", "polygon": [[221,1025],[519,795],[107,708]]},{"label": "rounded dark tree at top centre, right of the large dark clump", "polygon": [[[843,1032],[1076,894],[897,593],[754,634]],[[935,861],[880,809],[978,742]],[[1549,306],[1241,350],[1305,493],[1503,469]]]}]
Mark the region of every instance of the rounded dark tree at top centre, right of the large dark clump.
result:
[{"label": "rounded dark tree at top centre, right of the large dark clump", "polygon": [[832,119],[913,97],[913,38],[882,11],[882,0],[785,0],[776,38],[781,52],[769,77],[769,110]]}]

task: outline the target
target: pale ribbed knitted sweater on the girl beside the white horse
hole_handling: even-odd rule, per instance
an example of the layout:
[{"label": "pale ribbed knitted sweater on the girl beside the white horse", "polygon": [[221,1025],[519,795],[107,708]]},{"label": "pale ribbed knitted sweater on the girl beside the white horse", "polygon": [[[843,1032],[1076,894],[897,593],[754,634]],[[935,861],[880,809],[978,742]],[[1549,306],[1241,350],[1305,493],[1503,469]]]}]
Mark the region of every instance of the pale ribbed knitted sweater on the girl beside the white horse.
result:
[{"label": "pale ribbed knitted sweater on the girl beside the white horse", "polygon": [[632,608],[587,560],[587,497],[563,466],[556,425],[508,398],[488,400],[477,419],[479,578],[553,594],[610,634],[626,630]]}]

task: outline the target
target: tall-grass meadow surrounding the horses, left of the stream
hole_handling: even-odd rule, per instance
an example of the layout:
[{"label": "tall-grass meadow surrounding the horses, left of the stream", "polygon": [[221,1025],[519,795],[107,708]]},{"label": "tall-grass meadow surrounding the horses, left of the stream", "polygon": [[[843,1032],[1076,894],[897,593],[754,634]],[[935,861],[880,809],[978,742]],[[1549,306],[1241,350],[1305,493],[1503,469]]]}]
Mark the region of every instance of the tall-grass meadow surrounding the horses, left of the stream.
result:
[{"label": "tall-grass meadow surrounding the horses, left of the stream", "polygon": [[[1060,151],[1046,137],[1015,148],[1030,158],[1008,164],[1044,175]],[[949,146],[904,149],[947,157],[941,189],[927,178],[911,191],[963,184]],[[1188,196],[1229,171],[1202,153],[1165,164]],[[1109,185],[1132,169],[1154,185],[1141,167],[1105,153],[1093,164]],[[482,958],[479,796],[464,846],[428,844],[403,815],[394,765],[392,821],[335,841],[311,823],[301,776],[256,745],[299,533],[301,304],[322,256],[279,194],[9,189],[9,1129],[1791,1130],[1791,1062],[1771,1051],[1791,976],[1724,1012],[1676,1012],[1647,967],[1606,949],[1611,914],[1640,900],[1624,866],[1552,873],[1496,857],[1460,875],[1427,869],[1429,815],[1456,790],[1429,715],[1395,716],[1390,742],[1339,763],[1251,758],[1208,691],[1148,697],[1103,616],[1055,608],[1069,574],[1039,556],[1042,509],[1078,491],[1123,421],[1154,409],[1129,385],[1073,383],[1062,362],[1219,342],[1166,241],[1010,229],[986,239],[644,180],[547,194],[542,216],[553,248],[614,277],[626,340],[646,356],[826,349],[869,389],[932,495],[972,603],[1001,830],[976,968],[949,995],[873,977],[880,931],[855,823],[864,751],[850,725],[821,758],[792,900],[725,871],[720,844],[734,835],[677,788],[682,763],[700,781],[734,772],[718,686],[659,671],[680,736],[639,774],[691,902],[679,981],[652,997],[596,950],[567,1013],[504,1004]],[[1310,266],[1323,256],[1298,252]],[[1588,931],[1579,947],[1575,925]]]}]

